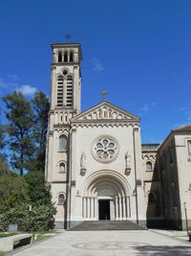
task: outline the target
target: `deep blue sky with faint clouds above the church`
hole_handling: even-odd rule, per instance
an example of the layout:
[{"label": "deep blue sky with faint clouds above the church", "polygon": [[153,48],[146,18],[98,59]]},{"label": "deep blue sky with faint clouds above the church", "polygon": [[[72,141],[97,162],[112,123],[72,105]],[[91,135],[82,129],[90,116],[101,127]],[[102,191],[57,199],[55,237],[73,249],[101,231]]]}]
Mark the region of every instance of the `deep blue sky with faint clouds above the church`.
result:
[{"label": "deep blue sky with faint clouds above the church", "polygon": [[0,97],[49,95],[50,44],[70,34],[82,45],[82,110],[107,89],[140,116],[143,143],[162,142],[191,123],[190,13],[190,0],[0,0]]}]

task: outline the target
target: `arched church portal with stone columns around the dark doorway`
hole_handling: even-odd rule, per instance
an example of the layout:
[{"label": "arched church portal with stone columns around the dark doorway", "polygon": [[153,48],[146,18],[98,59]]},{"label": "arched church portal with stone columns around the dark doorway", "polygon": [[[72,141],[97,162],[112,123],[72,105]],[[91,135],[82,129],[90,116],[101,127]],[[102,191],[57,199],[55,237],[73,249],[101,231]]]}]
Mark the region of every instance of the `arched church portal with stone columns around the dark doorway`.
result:
[{"label": "arched church portal with stone columns around the dark doorway", "polygon": [[122,175],[98,171],[87,178],[82,196],[84,221],[122,221],[130,217],[130,189]]}]

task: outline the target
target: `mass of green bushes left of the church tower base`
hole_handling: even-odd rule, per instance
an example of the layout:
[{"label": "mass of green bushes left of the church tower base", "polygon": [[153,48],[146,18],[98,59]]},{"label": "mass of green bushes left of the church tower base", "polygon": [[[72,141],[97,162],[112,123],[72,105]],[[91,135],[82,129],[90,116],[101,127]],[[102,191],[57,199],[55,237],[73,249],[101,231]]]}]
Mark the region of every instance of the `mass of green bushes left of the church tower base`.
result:
[{"label": "mass of green bushes left of the church tower base", "polygon": [[42,172],[0,177],[0,231],[6,231],[9,223],[17,223],[20,231],[48,230],[55,213]]}]

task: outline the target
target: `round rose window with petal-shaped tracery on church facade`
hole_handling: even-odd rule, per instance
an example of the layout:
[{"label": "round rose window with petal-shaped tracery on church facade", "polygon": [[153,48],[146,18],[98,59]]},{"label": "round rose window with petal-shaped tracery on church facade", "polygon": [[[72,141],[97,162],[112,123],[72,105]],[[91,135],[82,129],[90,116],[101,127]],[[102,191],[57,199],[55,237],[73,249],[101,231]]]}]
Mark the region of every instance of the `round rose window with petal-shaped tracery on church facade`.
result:
[{"label": "round rose window with petal-shaped tracery on church facade", "polygon": [[111,137],[96,139],[93,146],[93,155],[100,162],[112,162],[117,156],[117,142]]}]

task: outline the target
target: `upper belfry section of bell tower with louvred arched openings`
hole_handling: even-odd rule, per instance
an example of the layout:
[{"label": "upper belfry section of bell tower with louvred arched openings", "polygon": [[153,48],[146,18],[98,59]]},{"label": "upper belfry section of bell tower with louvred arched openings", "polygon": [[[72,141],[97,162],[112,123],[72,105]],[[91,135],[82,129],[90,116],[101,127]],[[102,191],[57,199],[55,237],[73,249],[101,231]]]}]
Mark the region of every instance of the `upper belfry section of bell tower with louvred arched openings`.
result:
[{"label": "upper belfry section of bell tower with louvred arched openings", "polygon": [[67,122],[80,112],[81,46],[79,43],[53,43],[52,50],[51,110],[64,110]]}]

